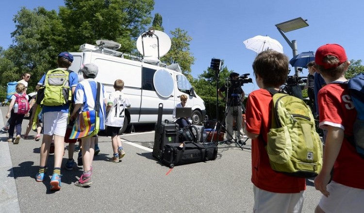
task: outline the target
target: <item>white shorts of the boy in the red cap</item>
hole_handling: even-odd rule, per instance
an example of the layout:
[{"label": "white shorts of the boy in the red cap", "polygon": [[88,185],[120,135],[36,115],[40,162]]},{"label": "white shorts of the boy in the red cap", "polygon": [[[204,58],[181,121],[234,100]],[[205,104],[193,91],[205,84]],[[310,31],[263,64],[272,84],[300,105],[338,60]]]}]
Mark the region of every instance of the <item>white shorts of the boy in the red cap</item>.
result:
[{"label": "white shorts of the boy in the red cap", "polygon": [[322,196],[318,206],[327,213],[362,213],[364,189],[353,188],[335,181],[326,187],[329,197]]}]

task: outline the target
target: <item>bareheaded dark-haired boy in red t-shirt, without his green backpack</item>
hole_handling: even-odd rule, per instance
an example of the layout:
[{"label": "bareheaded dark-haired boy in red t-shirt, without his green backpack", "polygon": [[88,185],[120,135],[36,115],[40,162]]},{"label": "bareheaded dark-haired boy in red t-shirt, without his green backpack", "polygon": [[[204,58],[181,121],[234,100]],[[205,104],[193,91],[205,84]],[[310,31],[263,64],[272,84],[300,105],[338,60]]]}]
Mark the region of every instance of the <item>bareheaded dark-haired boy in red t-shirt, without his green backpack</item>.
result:
[{"label": "bareheaded dark-haired boy in red t-shirt, without his green backpack", "polygon": [[251,138],[251,181],[254,184],[254,212],[300,213],[306,180],[274,171],[265,150],[271,123],[272,95],[267,88],[279,90],[286,81],[288,58],[282,53],[267,50],[253,62],[259,90],[248,96],[245,132]]}]

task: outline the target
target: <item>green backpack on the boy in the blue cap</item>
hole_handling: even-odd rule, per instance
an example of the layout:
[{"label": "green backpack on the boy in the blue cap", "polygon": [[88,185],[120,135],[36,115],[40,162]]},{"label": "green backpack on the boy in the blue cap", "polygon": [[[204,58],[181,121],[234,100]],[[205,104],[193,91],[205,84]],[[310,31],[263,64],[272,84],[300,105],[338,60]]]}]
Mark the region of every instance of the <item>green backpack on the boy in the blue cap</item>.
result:
[{"label": "green backpack on the boy in the blue cap", "polygon": [[44,85],[39,87],[36,103],[43,106],[62,106],[70,103],[72,92],[69,87],[68,69],[49,70],[44,80]]}]

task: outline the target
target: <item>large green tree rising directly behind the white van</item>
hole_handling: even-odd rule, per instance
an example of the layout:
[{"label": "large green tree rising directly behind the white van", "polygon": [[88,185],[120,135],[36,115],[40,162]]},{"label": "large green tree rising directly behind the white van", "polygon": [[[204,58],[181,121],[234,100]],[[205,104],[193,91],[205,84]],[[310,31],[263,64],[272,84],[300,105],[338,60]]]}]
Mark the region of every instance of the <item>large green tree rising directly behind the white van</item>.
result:
[{"label": "large green tree rising directly behind the white van", "polygon": [[154,0],[65,0],[65,5],[59,16],[67,26],[69,50],[107,39],[120,43],[120,51],[132,52],[151,23]]}]

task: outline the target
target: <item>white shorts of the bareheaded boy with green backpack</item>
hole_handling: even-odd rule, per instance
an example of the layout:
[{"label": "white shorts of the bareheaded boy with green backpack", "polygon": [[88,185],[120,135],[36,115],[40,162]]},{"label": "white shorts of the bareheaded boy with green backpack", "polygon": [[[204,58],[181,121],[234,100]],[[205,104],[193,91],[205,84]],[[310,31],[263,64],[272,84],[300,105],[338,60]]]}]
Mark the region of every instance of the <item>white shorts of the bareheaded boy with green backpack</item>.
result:
[{"label": "white shorts of the bareheaded boy with green backpack", "polygon": [[254,213],[300,213],[304,193],[273,193],[253,185]]}]

